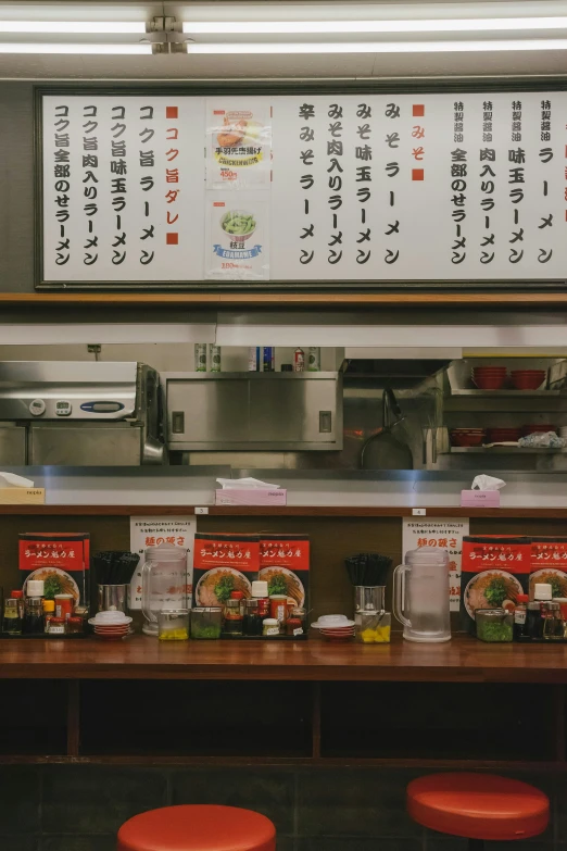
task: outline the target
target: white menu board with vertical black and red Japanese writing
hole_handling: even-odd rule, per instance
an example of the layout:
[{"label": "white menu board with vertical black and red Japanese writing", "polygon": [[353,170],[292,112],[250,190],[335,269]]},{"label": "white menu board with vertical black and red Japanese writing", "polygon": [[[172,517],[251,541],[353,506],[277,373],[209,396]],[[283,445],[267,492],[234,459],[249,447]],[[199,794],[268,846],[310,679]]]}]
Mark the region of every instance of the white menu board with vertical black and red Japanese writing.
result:
[{"label": "white menu board with vertical black and red Japanese writing", "polygon": [[39,283],[565,278],[567,92],[41,102]]}]

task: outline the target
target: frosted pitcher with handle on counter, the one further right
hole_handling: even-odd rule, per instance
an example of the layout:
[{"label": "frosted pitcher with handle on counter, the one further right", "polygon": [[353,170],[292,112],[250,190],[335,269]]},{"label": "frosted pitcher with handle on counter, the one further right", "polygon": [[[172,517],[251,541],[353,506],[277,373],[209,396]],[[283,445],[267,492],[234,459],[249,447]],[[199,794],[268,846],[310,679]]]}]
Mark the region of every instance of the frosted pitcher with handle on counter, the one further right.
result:
[{"label": "frosted pitcher with handle on counter, the one further right", "polygon": [[394,571],[393,611],[408,641],[438,642],[451,638],[449,554],[419,547],[410,550]]}]

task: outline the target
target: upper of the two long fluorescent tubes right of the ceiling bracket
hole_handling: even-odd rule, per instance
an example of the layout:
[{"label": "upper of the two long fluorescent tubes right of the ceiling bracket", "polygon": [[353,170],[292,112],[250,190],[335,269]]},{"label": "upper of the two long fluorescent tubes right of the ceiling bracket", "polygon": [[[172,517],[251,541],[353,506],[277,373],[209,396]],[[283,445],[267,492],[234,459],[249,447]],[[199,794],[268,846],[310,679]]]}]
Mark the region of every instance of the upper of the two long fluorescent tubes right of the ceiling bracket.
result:
[{"label": "upper of the two long fluorescent tubes right of the ceiling bracket", "polygon": [[325,35],[328,33],[475,33],[567,29],[567,17],[499,17],[439,21],[185,21],[194,35]]}]

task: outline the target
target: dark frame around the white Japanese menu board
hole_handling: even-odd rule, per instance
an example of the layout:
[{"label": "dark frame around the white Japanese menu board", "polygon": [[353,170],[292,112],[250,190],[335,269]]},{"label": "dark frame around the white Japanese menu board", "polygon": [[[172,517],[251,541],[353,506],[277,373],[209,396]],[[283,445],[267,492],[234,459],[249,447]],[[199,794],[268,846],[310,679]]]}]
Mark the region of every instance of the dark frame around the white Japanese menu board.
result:
[{"label": "dark frame around the white Japanese menu board", "polygon": [[[508,279],[470,279],[470,280],[306,280],[306,281],[287,281],[269,280],[259,283],[242,281],[139,281],[121,280],[116,283],[102,281],[52,281],[47,280],[43,274],[43,204],[42,204],[42,97],[46,95],[176,95],[176,96],[240,96],[240,95],[326,95],[336,92],[338,95],[408,95],[408,93],[506,93],[514,91],[565,91],[567,90],[567,80],[557,77],[517,77],[514,79],[399,79],[393,82],[376,80],[353,80],[339,83],[333,80],[310,80],[293,83],[282,80],[281,83],[247,80],[247,82],[199,82],[199,83],[125,83],[122,85],[110,86],[108,82],[100,84],[79,84],[79,85],[48,85],[39,84],[34,87],[34,182],[35,182],[35,289],[38,292],[52,293],[103,293],[103,292],[129,292],[129,293],[257,293],[261,300],[262,293],[302,293],[308,301],[310,293],[317,293],[317,302],[320,303],[320,297],[328,292],[339,296],[339,293],[410,293],[417,292],[437,293],[439,300],[443,301],[442,293],[449,292],[472,292],[496,295],[512,292],[532,292],[532,293],[559,293],[567,292],[567,280],[564,278],[533,279],[520,278],[516,280]],[[566,274],[567,277],[567,274]],[[467,299],[468,301],[468,299]]]}]

